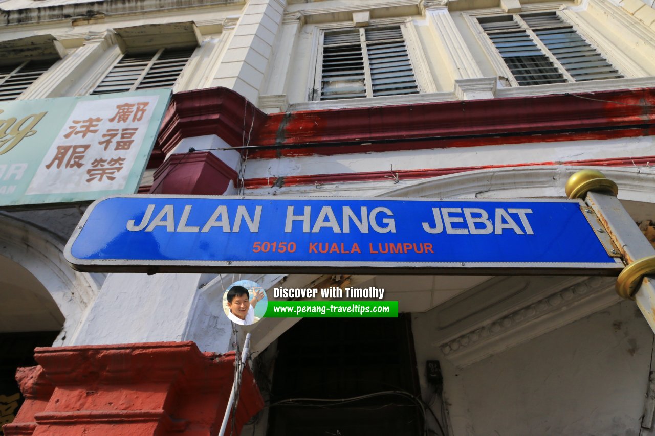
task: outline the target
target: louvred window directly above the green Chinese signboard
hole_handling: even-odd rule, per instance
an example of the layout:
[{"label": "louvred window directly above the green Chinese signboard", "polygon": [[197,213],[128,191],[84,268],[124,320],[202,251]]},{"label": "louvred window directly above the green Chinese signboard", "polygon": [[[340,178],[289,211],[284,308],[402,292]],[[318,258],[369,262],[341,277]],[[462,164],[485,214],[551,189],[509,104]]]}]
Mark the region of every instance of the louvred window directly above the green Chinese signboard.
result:
[{"label": "louvred window directly above the green Chinese signboard", "polygon": [[195,47],[124,54],[91,94],[172,88]]}]

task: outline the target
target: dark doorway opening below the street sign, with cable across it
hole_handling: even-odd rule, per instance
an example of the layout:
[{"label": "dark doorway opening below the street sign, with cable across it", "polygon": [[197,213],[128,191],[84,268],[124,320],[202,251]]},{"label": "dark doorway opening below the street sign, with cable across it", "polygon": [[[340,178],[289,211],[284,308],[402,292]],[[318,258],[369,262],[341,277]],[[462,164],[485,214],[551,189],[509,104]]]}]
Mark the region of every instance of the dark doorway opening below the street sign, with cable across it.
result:
[{"label": "dark doorway opening below the street sign, with cable across it", "polygon": [[421,434],[409,316],[305,318],[277,350],[268,436]]}]

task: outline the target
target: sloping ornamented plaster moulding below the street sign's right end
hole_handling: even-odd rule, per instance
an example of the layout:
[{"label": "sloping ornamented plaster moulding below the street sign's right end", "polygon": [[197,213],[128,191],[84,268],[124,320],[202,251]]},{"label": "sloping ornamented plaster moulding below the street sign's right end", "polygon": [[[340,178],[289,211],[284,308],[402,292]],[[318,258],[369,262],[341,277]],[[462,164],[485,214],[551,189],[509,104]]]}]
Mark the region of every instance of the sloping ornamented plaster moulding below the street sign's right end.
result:
[{"label": "sloping ornamented plaster moulding below the street sign's right end", "polygon": [[612,279],[592,277],[436,345],[447,359],[465,367],[618,300]]}]

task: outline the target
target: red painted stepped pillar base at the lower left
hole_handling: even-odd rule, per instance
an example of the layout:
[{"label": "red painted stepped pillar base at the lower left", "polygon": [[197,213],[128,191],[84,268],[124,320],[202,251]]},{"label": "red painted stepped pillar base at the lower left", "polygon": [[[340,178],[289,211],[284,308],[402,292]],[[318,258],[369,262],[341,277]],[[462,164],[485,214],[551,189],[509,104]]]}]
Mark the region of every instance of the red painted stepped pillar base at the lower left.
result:
[{"label": "red painted stepped pillar base at the lower left", "polygon": [[[37,348],[35,359],[17,372],[26,401],[7,436],[214,435],[234,378],[233,352],[193,342]],[[234,434],[262,407],[246,368]]]}]

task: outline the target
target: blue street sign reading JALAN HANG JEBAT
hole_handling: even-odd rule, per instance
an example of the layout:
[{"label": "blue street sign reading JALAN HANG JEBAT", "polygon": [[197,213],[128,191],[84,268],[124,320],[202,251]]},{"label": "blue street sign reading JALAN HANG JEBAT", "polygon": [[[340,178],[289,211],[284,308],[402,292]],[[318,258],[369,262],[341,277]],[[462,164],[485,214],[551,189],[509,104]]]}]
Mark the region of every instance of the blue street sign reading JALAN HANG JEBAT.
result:
[{"label": "blue street sign reading JALAN HANG JEBAT", "polygon": [[623,264],[584,209],[579,200],[113,196],[86,210],[65,256],[83,271],[618,274]]}]

